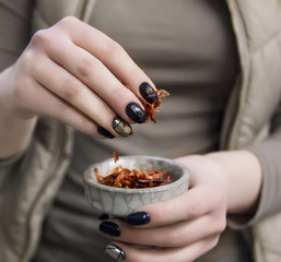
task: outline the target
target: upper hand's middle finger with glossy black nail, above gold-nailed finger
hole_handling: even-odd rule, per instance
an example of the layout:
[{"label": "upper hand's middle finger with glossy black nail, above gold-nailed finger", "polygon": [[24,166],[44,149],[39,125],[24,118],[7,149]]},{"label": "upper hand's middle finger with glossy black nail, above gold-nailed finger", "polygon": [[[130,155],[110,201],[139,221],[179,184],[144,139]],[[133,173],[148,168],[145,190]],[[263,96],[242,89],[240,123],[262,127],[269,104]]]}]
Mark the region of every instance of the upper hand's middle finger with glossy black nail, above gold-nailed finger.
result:
[{"label": "upper hand's middle finger with glossy black nail, above gold-nailed finger", "polygon": [[94,56],[66,37],[60,45],[50,48],[49,55],[54,61],[92,88],[125,121],[142,123],[147,120],[143,106],[137,96]]}]

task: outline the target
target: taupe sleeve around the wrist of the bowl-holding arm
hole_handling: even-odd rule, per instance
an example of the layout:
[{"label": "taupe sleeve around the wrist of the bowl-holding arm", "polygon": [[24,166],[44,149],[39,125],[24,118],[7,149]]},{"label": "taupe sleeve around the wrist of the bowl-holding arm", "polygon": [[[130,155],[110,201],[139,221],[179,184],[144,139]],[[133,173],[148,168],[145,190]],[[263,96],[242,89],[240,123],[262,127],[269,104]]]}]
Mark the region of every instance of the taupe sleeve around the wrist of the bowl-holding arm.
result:
[{"label": "taupe sleeve around the wrist of the bowl-holding arm", "polygon": [[230,226],[236,229],[281,212],[281,103],[272,120],[271,135],[246,150],[259,158],[264,180],[256,212],[251,216],[229,216]]}]

